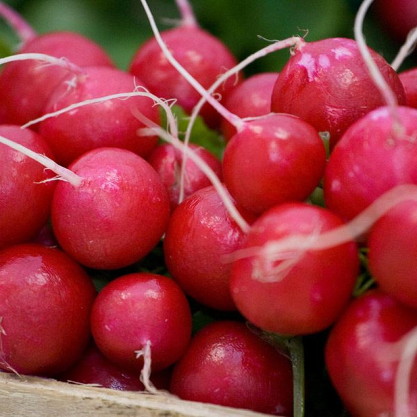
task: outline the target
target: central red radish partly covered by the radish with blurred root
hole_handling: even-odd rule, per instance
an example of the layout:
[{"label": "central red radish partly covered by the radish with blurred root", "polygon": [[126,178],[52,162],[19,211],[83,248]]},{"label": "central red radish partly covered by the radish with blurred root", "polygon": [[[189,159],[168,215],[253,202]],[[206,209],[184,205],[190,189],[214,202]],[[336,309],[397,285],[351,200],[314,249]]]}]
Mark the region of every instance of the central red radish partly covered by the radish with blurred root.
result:
[{"label": "central red radish partly covered by the radish with blurred root", "polygon": [[[241,215],[252,222],[254,216]],[[165,263],[183,291],[220,310],[236,306],[229,291],[231,265],[222,257],[240,249],[245,234],[227,213],[213,186],[196,191],[171,215],[163,248]]]}]

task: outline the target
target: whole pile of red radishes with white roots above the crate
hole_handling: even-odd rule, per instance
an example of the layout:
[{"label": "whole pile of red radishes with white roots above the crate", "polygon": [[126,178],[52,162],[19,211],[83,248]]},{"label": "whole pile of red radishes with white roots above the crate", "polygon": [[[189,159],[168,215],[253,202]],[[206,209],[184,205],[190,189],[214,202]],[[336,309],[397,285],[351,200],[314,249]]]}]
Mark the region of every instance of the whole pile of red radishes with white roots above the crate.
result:
[{"label": "whole pile of red radishes with white roots above the crate", "polygon": [[417,70],[366,46],[372,0],[352,39],[241,63],[187,1],[162,33],[140,3],[126,71],[0,3],[22,40],[0,60],[0,370],[415,416]]}]

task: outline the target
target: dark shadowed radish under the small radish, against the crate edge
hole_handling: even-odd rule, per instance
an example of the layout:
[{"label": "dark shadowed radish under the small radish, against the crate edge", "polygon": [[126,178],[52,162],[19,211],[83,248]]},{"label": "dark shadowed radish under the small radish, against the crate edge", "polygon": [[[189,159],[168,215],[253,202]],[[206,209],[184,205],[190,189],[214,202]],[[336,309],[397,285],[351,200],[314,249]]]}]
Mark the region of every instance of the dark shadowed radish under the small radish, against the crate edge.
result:
[{"label": "dark shadowed radish under the small radish, against the crate edge", "polygon": [[[102,354],[95,343],[90,343],[81,358],[64,373],[56,375],[60,381],[75,382],[77,384],[90,384],[119,391],[143,391],[145,386],[140,381],[140,374],[131,370],[120,368],[109,361]],[[158,389],[167,390],[169,387],[170,372],[163,370],[154,373],[152,382]]]}]

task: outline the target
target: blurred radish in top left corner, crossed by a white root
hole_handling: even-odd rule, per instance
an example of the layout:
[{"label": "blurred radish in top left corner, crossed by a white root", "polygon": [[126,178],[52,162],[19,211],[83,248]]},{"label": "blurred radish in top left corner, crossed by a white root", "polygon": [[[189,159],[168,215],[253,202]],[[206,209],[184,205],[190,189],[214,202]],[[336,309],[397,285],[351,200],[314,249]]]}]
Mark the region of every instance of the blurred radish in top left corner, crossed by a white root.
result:
[{"label": "blurred radish in top left corner, crossed by a white root", "polygon": [[[7,6],[2,3],[3,16],[5,8]],[[14,16],[15,25],[30,27],[22,17],[16,13]],[[114,67],[104,49],[78,33],[52,32],[35,35],[32,30],[29,35],[22,32],[19,34],[24,37],[24,43],[18,50],[19,54],[41,53],[57,58],[65,57],[80,67]],[[35,60],[6,65],[0,74],[0,122],[24,124],[39,117],[48,96],[65,76],[66,70],[56,66],[40,65]]]}]

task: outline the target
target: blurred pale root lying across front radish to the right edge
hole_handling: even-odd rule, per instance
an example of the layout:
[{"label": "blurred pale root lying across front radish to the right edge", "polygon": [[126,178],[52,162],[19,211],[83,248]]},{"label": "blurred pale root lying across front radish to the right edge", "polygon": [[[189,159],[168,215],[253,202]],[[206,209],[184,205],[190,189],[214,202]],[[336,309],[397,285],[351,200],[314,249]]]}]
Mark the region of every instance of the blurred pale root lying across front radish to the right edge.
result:
[{"label": "blurred pale root lying across front radish to the right edge", "polygon": [[[311,234],[292,234],[278,240],[270,240],[260,247],[237,250],[224,260],[232,262],[256,257],[257,270],[254,279],[265,282],[279,281],[290,272],[306,251],[325,250],[352,242],[366,234],[370,227],[391,208],[408,200],[417,202],[417,185],[402,184],[391,188],[350,222],[335,229],[320,234],[320,224],[318,224]],[[269,268],[272,269],[266,273],[265,270]]]}]

